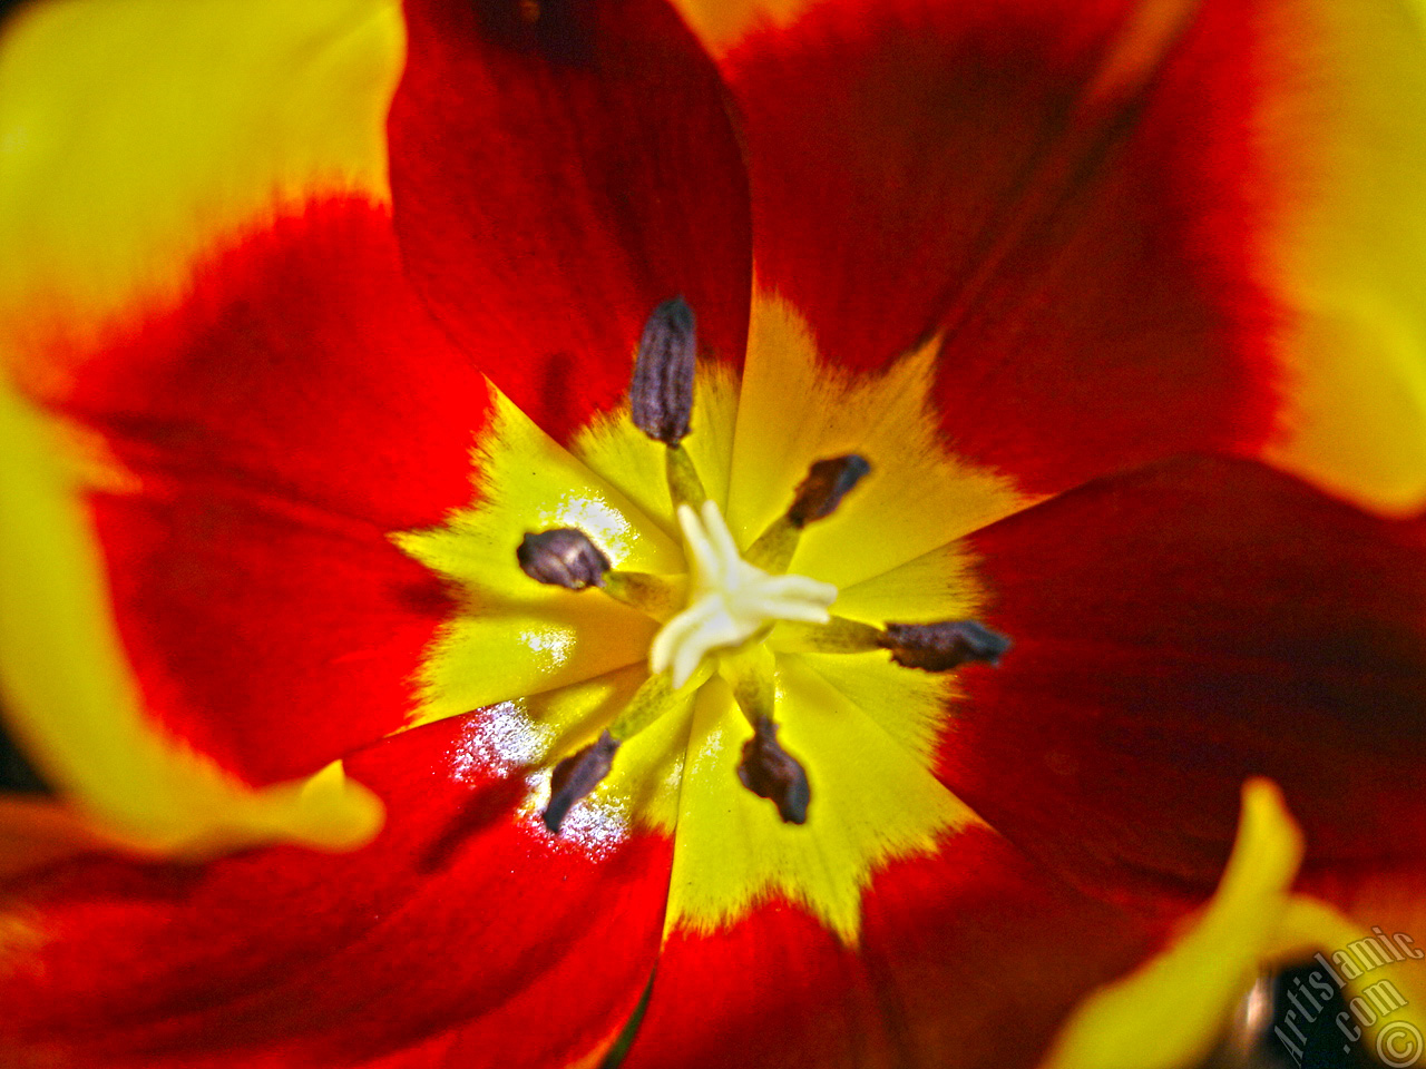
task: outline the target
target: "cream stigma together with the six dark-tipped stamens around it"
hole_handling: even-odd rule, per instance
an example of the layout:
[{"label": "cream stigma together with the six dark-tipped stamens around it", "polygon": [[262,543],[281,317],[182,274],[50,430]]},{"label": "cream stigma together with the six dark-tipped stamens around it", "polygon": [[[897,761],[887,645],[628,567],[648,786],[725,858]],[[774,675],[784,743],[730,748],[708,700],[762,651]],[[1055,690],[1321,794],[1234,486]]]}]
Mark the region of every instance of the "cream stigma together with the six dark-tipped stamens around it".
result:
[{"label": "cream stigma together with the six dark-tipped stamens around it", "polygon": [[[693,412],[693,311],[682,298],[653,311],[629,391],[632,422],[666,448],[669,497],[683,532],[686,603],[655,636],[649,647],[652,674],[623,714],[597,740],[555,765],[542,814],[552,832],[559,831],[570,807],[609,775],[627,738],[667,713],[694,677],[703,686],[714,674],[726,681],[753,727],[737,778],[753,794],[773,801],[784,822],[806,822],[811,794],[806,770],[777,741],[777,660],[763,649],[774,624],[814,626],[817,630],[804,641],[810,639],[823,651],[884,649],[897,664],[925,671],[947,671],[968,660],[995,663],[1010,646],[974,620],[890,623],[881,629],[838,620],[829,611],[837,600],[836,586],[786,573],[803,527],[833,515],[871,470],[856,453],[811,465],[787,512],[743,554],[683,449]],[[676,600],[667,580],[612,570],[606,554],[578,529],[526,533],[516,559],[520,570],[540,583],[569,590],[602,587],[653,617]]]}]

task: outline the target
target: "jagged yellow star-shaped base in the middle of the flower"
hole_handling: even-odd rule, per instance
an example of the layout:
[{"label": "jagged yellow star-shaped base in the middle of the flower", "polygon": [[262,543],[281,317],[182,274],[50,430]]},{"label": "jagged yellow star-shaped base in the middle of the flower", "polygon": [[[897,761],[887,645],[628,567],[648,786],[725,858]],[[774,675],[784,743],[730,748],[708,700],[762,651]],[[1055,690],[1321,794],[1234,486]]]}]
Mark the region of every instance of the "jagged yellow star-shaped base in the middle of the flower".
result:
[{"label": "jagged yellow star-shaped base in the middle of the flower", "polygon": [[[476,503],[395,536],[465,592],[428,651],[412,725],[472,714],[458,770],[525,774],[520,820],[552,848],[599,857],[640,831],[672,835],[670,931],[781,901],[854,942],[876,872],[975,820],[933,774],[955,673],[901,667],[866,636],[980,616],[957,539],[1024,505],[941,442],[933,352],[846,378],[790,306],[760,295],[742,378],[697,369],[677,450],[697,492],[629,410],[565,449],[499,398],[475,450]],[[809,469],[848,453],[870,475],[790,534]],[[603,590],[516,564],[522,539],[560,529],[607,560]],[[759,713],[806,770],[804,824],[746,785]],[[607,773],[550,832],[553,771],[606,733]]]}]

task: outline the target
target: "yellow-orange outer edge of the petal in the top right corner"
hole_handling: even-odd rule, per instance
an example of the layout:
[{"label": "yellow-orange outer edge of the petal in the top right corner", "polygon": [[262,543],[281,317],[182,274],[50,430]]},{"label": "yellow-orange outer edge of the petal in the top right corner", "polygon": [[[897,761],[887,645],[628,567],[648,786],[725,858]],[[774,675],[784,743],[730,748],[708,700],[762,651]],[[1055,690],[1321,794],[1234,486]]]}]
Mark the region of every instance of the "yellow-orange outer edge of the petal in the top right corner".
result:
[{"label": "yellow-orange outer edge of the petal in the top right corner", "polygon": [[[1289,405],[1269,459],[1390,512],[1426,503],[1426,4],[1301,0],[1263,31],[1262,117]],[[1291,9],[1291,10],[1288,10]]]}]

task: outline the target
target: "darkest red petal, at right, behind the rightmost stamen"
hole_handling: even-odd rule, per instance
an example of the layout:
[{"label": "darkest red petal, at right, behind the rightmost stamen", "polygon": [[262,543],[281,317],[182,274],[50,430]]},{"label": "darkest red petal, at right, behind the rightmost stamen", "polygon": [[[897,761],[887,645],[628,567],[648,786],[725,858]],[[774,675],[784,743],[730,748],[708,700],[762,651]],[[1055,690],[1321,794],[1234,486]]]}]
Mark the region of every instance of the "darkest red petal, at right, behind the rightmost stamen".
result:
[{"label": "darkest red petal, at right, behind the rightmost stamen", "polygon": [[1015,646],[961,673],[944,778],[1089,887],[1201,892],[1248,775],[1306,868],[1426,851],[1426,525],[1249,462],[1091,483],[970,539]]}]

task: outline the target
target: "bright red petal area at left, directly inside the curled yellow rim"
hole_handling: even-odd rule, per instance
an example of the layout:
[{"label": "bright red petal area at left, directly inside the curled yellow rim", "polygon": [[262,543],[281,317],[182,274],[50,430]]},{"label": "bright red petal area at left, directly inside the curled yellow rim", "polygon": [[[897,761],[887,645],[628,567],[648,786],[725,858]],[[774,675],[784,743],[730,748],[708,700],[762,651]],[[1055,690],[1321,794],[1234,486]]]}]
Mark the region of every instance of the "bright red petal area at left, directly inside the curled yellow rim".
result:
[{"label": "bright red petal area at left, directly inside the curled yellow rim", "polygon": [[96,502],[147,710],[252,783],[406,723],[451,609],[381,529],[324,519],[193,476]]}]

